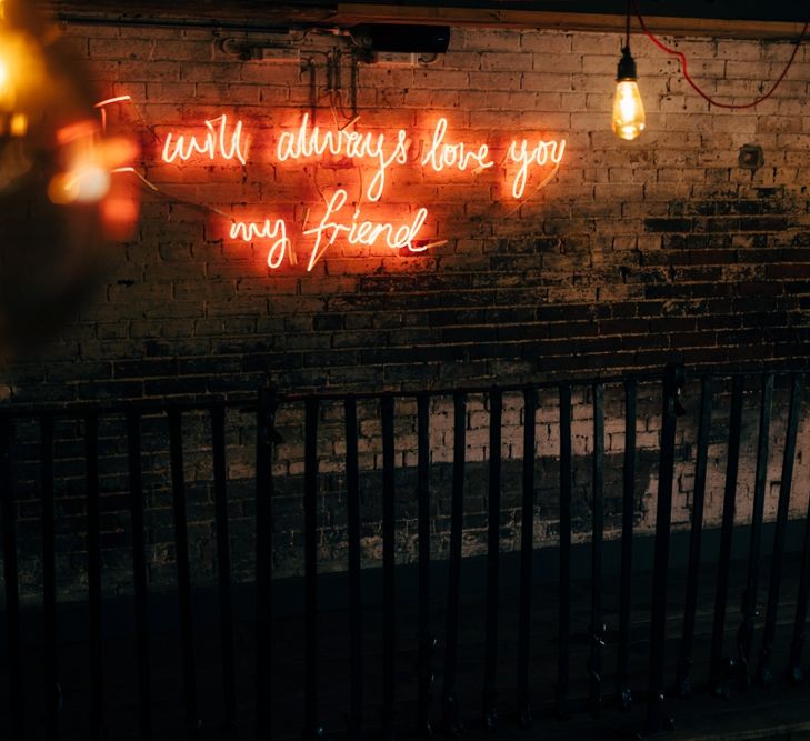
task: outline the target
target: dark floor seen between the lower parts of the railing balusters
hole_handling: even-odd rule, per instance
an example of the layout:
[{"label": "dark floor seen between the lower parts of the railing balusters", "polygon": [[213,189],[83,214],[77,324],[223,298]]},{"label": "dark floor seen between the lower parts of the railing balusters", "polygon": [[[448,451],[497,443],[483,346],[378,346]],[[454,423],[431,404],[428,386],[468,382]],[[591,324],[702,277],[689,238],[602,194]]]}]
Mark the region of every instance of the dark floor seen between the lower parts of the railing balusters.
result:
[{"label": "dark floor seen between the lower parts of the railing balusters", "polygon": [[[504,562],[504,568],[511,568]],[[766,565],[766,564],[763,564]],[[693,652],[694,695],[689,700],[670,698],[667,709],[673,715],[677,730],[669,738],[681,739],[810,739],[810,681],[798,688],[788,687],[783,679],[787,668],[787,649],[792,638],[796,609],[799,559],[794,554],[786,560],[782,581],[782,600],[773,659],[778,678],[773,687],[752,688],[742,691],[736,683],[730,698],[710,697],[706,690],[708,654],[714,600],[714,571],[701,571],[701,587],[698,609],[696,643]],[[726,621],[726,652],[736,652],[734,637],[740,622],[739,604],[747,564],[732,564],[729,608]],[[542,578],[542,572],[540,578]],[[373,582],[379,574],[370,574]],[[759,602],[767,598],[767,568],[760,578]],[[553,577],[552,577],[553,578]],[[571,718],[561,721],[554,718],[552,700],[557,673],[557,587],[539,583],[532,601],[531,634],[531,689],[534,708],[534,723],[530,731],[521,731],[514,721],[514,688],[517,660],[517,592],[514,580],[506,578],[500,599],[500,651],[498,662],[499,708],[501,721],[496,734],[487,733],[480,721],[480,699],[483,667],[483,617],[484,602],[480,589],[468,590],[461,610],[458,695],[461,714],[467,728],[466,738],[519,739],[599,739],[630,738],[643,728],[646,712],[644,688],[648,669],[648,640],[651,578],[638,573],[633,579],[632,642],[630,650],[631,687],[634,693],[634,709],[622,712],[613,700],[616,693],[614,671],[617,664],[617,628],[619,580],[612,575],[604,582],[604,611],[608,625],[607,644],[603,650],[603,710],[599,719],[591,718],[586,708],[588,693],[588,623],[590,611],[590,585],[587,580],[572,582],[572,610],[574,619],[571,633]],[[667,625],[667,681],[674,681],[676,663],[680,647],[686,574],[682,569],[673,570],[670,577],[669,620]],[[480,585],[480,584],[479,584]],[[432,628],[439,640],[434,652],[436,683],[431,718],[433,727],[441,731],[441,689],[443,681],[443,608],[441,582],[433,584],[437,595],[432,612]],[[272,717],[273,740],[300,739],[303,727],[303,621],[296,609],[297,592],[274,591],[277,600],[287,600],[287,609],[280,610],[274,620],[273,645],[273,692],[270,702],[261,704],[261,712]],[[291,597],[292,595],[292,597]],[[161,599],[153,599],[150,660],[152,679],[152,711],[156,739],[186,738],[182,700],[182,674],[177,624],[171,613],[173,598],[161,607]],[[168,599],[168,598],[167,598]],[[328,601],[328,600],[323,600]],[[124,604],[124,603],[122,603]],[[156,607],[157,605],[157,607]],[[136,683],[136,655],[127,620],[118,620],[121,605],[106,605],[108,634],[104,639],[104,705],[109,739],[138,738],[138,700]],[[126,610],[124,610],[126,611]],[[221,650],[216,628],[216,601],[198,595],[194,603],[197,647],[197,682],[200,707],[201,739],[253,739],[256,719],[256,641],[254,627],[247,615],[252,614],[249,594],[234,595],[237,631],[234,635],[237,657],[237,698],[239,724],[236,731],[223,731]],[[763,608],[761,613],[763,613]],[[60,713],[60,738],[64,741],[90,738],[88,730],[89,648],[86,615],[81,610],[63,613],[61,633],[73,640],[60,641],[58,652],[59,675],[63,694]],[[37,614],[26,621],[27,642],[24,651],[24,689],[27,737],[44,738],[42,713],[42,652],[37,645],[39,632]],[[754,634],[754,655],[759,651],[763,615],[760,614]],[[71,621],[72,624],[71,625]],[[110,628],[111,623],[120,623]],[[368,738],[379,738],[381,719],[382,651],[381,611],[370,604],[363,612],[364,633],[364,724]],[[77,628],[78,625],[78,628]],[[33,635],[33,637],[32,637]],[[348,613],[341,607],[324,611],[319,617],[320,677],[319,721],[330,735],[341,738],[346,727],[349,707],[349,630]],[[416,611],[411,601],[397,609],[397,658],[396,687],[397,712],[394,723],[397,738],[414,738],[416,719]],[[6,663],[4,653],[0,661]],[[0,667],[0,739],[10,739],[8,725],[8,673]],[[14,740],[17,741],[17,740]]]}]

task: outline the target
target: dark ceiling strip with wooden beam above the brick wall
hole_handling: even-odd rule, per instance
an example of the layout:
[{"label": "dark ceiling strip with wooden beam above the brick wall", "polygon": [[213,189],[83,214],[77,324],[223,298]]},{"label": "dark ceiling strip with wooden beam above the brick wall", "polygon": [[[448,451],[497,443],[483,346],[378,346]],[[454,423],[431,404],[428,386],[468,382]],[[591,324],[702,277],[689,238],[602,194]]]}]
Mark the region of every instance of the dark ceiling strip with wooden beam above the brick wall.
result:
[{"label": "dark ceiling strip with wooden beam above the brick wall", "polygon": [[[618,30],[624,0],[38,0],[63,21],[222,28],[352,26],[366,21]],[[660,31],[710,36],[794,36],[810,16],[797,0],[638,0]]]}]

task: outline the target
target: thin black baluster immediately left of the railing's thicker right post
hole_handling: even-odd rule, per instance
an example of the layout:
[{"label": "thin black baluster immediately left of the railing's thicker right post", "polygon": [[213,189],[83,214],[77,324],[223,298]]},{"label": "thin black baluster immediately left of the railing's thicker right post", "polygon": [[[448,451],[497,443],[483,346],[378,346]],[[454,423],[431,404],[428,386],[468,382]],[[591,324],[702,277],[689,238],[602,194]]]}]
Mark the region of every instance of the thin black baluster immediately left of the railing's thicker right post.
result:
[{"label": "thin black baluster immediately left of the railing's thicker right post", "polygon": [[619,705],[630,710],[628,660],[630,657],[630,599],[633,565],[633,517],[636,514],[636,381],[624,383],[624,465],[621,503],[621,588],[619,594],[619,645],[616,670],[616,694]]}]

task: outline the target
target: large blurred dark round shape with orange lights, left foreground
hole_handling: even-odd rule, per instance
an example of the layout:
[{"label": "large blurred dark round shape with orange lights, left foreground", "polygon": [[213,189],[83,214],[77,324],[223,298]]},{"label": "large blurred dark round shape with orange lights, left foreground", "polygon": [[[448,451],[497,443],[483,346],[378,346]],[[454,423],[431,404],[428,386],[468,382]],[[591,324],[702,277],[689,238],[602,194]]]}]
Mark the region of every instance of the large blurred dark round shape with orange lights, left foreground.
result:
[{"label": "large blurred dark round shape with orange lights, left foreground", "polygon": [[0,0],[0,367],[70,321],[138,219],[114,174],[136,142],[108,136],[118,118],[40,4]]}]

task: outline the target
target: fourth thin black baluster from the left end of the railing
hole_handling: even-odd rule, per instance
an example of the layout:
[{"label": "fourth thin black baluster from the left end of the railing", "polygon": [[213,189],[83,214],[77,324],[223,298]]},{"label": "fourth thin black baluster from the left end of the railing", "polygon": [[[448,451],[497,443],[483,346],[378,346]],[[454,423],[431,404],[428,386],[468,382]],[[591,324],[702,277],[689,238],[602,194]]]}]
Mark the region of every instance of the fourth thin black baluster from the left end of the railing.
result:
[{"label": "fourth thin black baluster from the left end of the railing", "polygon": [[149,597],[143,527],[143,477],[141,469],[141,418],[127,413],[129,458],[129,508],[132,517],[132,579],[134,582],[136,661],[138,662],[138,727],[142,741],[152,739],[152,685],[149,662]]}]

